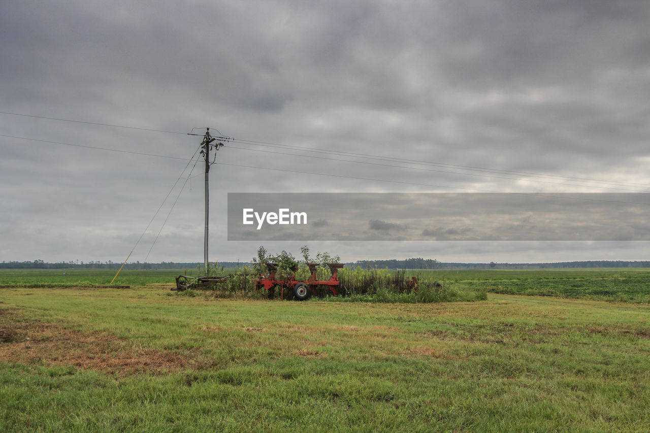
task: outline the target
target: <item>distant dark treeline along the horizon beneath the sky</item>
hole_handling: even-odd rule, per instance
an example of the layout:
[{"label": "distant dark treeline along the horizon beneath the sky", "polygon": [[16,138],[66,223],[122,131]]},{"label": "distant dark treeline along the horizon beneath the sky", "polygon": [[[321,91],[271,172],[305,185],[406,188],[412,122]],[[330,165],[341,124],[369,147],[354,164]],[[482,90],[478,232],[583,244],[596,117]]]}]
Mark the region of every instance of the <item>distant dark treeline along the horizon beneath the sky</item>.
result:
[{"label": "distant dark treeline along the horizon beneath the sky", "polygon": [[[126,263],[124,269],[197,269],[203,263],[174,263],[163,261],[161,263],[140,263],[139,261]],[[223,261],[219,267],[234,269],[243,265],[252,266],[250,262]],[[120,269],[122,263],[112,261],[68,261],[59,263],[45,263],[42,260],[34,261],[3,261],[0,269]],[[650,261],[563,261],[556,263],[443,263],[436,259],[422,259],[421,257],[406,260],[357,260],[348,262],[345,267],[363,269],[568,269],[568,268],[648,268]]]}]

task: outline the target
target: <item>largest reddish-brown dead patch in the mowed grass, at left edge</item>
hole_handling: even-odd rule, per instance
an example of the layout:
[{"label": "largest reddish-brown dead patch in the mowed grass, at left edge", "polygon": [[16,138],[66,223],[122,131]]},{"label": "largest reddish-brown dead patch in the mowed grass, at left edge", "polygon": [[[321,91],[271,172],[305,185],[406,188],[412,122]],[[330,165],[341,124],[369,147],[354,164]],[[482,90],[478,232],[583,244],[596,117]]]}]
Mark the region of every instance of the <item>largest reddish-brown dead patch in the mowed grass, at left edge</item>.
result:
[{"label": "largest reddish-brown dead patch in the mowed grass, at left edge", "polygon": [[0,361],[74,365],[118,376],[162,374],[200,367],[197,354],[135,349],[129,347],[125,339],[114,335],[81,333],[57,324],[34,321],[14,311],[2,311]]}]

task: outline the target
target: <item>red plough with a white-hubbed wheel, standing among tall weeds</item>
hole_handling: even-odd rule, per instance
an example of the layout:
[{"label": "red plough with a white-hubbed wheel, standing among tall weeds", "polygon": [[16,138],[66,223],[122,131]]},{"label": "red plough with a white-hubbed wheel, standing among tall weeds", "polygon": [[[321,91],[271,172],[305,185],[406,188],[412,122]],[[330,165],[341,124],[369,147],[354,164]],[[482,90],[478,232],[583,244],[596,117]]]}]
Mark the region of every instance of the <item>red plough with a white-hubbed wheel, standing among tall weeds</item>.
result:
[{"label": "red plough with a white-hubbed wheel, standing among tall weeds", "polygon": [[341,292],[341,282],[339,282],[337,274],[339,269],[343,268],[343,263],[326,263],[326,265],[330,267],[331,271],[329,280],[318,281],[316,277],[318,263],[307,263],[307,266],[311,271],[311,276],[307,278],[307,281],[297,281],[297,267],[292,269],[293,274],[291,274],[289,278],[278,280],[278,278],[276,278],[278,264],[266,263],[268,275],[259,276],[257,281],[255,281],[255,288],[266,289],[269,298],[275,296],[276,289],[279,289],[281,298],[285,298],[285,291],[287,291],[287,293],[292,291],[297,300],[305,300],[311,295],[317,295],[318,291],[322,289],[329,289],[334,296],[339,295]]}]

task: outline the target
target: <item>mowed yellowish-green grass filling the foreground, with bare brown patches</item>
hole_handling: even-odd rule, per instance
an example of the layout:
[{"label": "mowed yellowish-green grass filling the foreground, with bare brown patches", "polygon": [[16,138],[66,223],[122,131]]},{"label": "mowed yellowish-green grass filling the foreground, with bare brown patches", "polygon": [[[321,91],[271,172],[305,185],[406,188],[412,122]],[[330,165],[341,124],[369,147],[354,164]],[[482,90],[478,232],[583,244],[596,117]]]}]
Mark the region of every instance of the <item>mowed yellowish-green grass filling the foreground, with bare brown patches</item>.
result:
[{"label": "mowed yellowish-green grass filling the foreground, with bare brown patches", "polygon": [[650,308],[0,292],[1,431],[647,431]]}]

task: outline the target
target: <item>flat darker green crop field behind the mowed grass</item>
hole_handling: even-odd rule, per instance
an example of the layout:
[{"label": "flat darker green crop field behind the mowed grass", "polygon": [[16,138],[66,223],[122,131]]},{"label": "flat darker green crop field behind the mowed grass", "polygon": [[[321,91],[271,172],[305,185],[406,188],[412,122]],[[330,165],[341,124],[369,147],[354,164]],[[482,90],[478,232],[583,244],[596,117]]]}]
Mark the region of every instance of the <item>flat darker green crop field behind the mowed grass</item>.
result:
[{"label": "flat darker green crop field behind the mowed grass", "polygon": [[[234,272],[226,269],[226,273]],[[108,285],[116,270],[2,269],[0,287],[89,287]],[[171,284],[186,270],[122,270],[114,285]],[[409,276],[437,280],[458,291],[556,296],[650,304],[650,269],[408,270]]]}]

